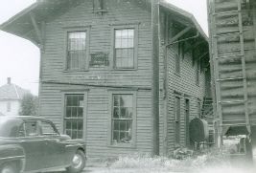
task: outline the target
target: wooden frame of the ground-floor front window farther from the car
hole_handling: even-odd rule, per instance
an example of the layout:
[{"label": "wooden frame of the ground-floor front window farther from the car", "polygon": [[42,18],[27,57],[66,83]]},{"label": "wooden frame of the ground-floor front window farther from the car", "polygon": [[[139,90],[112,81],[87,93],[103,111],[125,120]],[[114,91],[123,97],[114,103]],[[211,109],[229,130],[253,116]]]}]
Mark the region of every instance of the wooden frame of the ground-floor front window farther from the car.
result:
[{"label": "wooden frame of the ground-floor front window farther from the car", "polygon": [[[132,95],[133,117],[132,117],[132,140],[130,143],[112,143],[112,114],[113,114],[113,95]],[[137,92],[136,91],[108,91],[108,127],[107,127],[107,145],[108,147],[136,148],[137,132]]]}]

